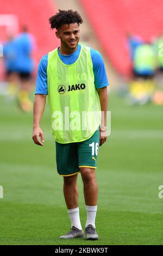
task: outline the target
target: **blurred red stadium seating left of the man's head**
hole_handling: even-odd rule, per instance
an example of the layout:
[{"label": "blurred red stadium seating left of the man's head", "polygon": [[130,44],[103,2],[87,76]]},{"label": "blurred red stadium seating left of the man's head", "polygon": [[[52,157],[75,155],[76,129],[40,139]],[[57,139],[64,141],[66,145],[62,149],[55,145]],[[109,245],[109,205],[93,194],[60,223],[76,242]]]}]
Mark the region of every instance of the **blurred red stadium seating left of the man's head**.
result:
[{"label": "blurred red stadium seating left of the man's head", "polygon": [[[29,33],[34,35],[36,41],[36,49],[34,52],[36,64],[38,64],[44,54],[57,47],[57,38],[50,30],[50,25],[48,24],[49,17],[52,16],[56,10],[57,8],[55,8],[54,1],[52,0],[0,1],[0,17],[9,14],[15,15],[18,21],[18,32],[21,32],[22,26],[26,25],[29,29]],[[14,32],[14,25],[12,29]],[[1,43],[6,36],[7,24],[6,26],[0,26]]]}]

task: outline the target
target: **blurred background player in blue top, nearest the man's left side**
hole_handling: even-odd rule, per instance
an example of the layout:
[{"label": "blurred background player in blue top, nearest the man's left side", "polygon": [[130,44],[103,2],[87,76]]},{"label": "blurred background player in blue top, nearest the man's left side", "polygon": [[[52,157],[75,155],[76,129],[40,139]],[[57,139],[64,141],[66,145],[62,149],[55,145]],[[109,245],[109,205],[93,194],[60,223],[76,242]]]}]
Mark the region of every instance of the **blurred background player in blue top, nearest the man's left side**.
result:
[{"label": "blurred background player in blue top, nearest the man's left side", "polygon": [[34,40],[28,33],[26,26],[23,27],[22,33],[15,38],[16,45],[16,71],[20,81],[20,92],[18,93],[18,103],[24,112],[30,112],[33,103],[30,101],[29,94],[32,88],[31,78],[34,70],[32,51]]}]

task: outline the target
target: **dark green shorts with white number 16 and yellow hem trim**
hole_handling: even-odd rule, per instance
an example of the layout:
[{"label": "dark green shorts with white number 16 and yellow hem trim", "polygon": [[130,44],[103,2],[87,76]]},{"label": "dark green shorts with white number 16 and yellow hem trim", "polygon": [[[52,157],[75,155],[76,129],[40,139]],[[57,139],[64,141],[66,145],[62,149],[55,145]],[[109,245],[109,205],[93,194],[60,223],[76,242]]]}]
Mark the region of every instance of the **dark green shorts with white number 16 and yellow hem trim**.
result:
[{"label": "dark green shorts with white number 16 and yellow hem trim", "polygon": [[79,167],[97,168],[99,129],[83,142],[56,145],[57,171],[61,176],[79,173]]}]

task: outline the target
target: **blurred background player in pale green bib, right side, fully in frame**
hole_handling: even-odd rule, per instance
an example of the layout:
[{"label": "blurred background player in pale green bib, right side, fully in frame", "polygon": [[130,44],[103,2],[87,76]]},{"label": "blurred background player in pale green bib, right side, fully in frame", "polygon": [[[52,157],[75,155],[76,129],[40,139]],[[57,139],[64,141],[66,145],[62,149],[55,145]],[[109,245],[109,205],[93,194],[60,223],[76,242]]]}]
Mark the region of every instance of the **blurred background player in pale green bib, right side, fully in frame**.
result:
[{"label": "blurred background player in pale green bib, right side, fully in frame", "polygon": [[151,101],[154,92],[156,54],[152,44],[140,44],[133,56],[134,80],[130,83],[131,103],[145,104]]}]

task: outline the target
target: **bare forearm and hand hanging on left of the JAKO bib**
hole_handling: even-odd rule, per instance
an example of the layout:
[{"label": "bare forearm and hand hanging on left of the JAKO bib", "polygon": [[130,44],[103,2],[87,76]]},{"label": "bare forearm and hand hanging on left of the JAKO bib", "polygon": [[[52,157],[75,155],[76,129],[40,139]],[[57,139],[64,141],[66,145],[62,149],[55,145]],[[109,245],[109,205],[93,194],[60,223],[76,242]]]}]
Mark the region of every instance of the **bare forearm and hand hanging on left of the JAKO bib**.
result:
[{"label": "bare forearm and hand hanging on left of the JAKO bib", "polygon": [[[40,121],[45,109],[46,94],[36,94],[33,108],[33,141],[35,144],[43,146],[43,132],[40,128]],[[39,139],[41,138],[41,141]]]}]

